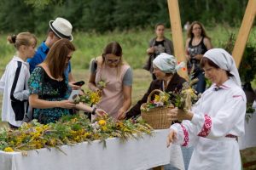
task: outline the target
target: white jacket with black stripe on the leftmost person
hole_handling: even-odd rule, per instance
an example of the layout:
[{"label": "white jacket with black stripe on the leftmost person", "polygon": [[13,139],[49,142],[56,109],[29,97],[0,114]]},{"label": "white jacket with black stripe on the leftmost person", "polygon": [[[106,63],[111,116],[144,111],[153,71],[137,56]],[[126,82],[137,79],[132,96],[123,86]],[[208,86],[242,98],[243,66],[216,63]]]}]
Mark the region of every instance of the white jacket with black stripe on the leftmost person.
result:
[{"label": "white jacket with black stripe on the leftmost person", "polygon": [[[18,61],[21,62],[20,74],[16,82],[15,73],[18,68]],[[15,90],[13,97],[20,101],[24,102],[24,109],[26,110],[27,99],[29,96],[27,81],[30,77],[29,65],[19,57],[15,56],[9,64],[6,66],[6,69],[3,73],[3,76],[0,80],[0,91],[3,92],[3,105],[2,105],[2,121],[9,122],[15,127],[20,127],[23,123],[22,120],[15,120],[15,111],[11,104],[11,89],[15,83]],[[21,108],[20,108],[21,109]],[[26,111],[24,111],[26,113]]]}]

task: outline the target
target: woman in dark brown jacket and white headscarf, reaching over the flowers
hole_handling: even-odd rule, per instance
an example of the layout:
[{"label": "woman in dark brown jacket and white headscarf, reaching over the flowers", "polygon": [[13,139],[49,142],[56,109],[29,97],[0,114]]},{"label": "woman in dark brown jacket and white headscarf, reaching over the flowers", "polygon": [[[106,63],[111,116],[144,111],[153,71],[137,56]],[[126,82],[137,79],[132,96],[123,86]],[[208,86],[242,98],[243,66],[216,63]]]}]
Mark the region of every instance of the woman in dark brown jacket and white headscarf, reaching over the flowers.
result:
[{"label": "woman in dark brown jacket and white headscarf, reaching over the flowers", "polygon": [[160,89],[165,92],[180,91],[183,87],[183,82],[186,82],[183,77],[179,77],[177,74],[177,70],[182,67],[182,64],[177,65],[177,60],[170,54],[160,54],[153,60],[153,67],[156,80],[150,83],[148,92],[144,94],[143,99],[140,99],[137,104],[126,113],[126,119],[135,118],[141,114],[141,105],[147,102],[148,95],[154,89]]}]

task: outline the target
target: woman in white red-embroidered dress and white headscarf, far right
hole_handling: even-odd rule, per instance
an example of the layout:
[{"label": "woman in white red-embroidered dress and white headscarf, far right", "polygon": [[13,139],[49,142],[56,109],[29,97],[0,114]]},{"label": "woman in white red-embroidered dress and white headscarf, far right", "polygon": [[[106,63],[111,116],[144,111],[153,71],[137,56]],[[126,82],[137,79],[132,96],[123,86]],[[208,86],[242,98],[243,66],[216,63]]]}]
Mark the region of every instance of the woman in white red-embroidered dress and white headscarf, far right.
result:
[{"label": "woman in white red-embroidered dress and white headscarf, far right", "polygon": [[212,81],[192,111],[170,112],[173,124],[167,145],[194,145],[189,170],[241,169],[237,138],[244,134],[246,96],[232,56],[213,48],[201,59],[206,77]]}]

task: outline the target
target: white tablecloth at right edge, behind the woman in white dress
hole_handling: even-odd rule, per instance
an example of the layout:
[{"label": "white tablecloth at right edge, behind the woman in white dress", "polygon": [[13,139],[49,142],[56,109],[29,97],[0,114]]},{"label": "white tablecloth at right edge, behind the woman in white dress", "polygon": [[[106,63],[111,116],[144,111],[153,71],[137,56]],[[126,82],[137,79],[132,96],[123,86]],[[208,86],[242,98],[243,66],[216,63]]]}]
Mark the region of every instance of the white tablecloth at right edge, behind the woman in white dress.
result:
[{"label": "white tablecloth at right edge, behind the woman in white dress", "polygon": [[[255,101],[253,108],[256,109]],[[249,122],[245,121],[245,135],[238,139],[238,144],[240,150],[256,147],[256,111],[254,111],[253,117],[249,119]]]}]

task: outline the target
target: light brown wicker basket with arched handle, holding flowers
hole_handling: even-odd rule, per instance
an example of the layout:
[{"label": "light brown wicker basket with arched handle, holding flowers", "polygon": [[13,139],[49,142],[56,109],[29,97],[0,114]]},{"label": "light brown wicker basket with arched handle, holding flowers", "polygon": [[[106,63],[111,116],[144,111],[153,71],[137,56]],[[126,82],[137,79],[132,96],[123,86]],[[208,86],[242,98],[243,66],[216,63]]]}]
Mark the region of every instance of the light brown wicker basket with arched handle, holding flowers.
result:
[{"label": "light brown wicker basket with arched handle, holding flowers", "polygon": [[[155,93],[163,93],[159,89],[154,89],[149,95],[147,99],[147,103],[149,103],[151,96]],[[146,105],[146,104],[143,104]],[[141,106],[141,108],[143,107]],[[167,113],[170,109],[173,109],[173,106],[168,107],[155,107],[150,109],[150,111],[141,111],[142,118],[145,122],[147,122],[154,129],[165,129],[169,128],[172,124],[172,121],[168,120]]]}]

